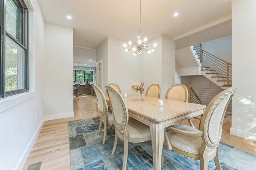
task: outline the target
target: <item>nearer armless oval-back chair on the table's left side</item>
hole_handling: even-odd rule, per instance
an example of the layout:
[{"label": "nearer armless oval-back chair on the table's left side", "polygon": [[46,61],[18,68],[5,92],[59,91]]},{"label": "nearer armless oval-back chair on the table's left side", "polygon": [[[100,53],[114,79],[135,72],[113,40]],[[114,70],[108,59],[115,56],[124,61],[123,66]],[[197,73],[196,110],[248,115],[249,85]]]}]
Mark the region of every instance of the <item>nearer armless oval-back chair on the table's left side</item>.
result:
[{"label": "nearer armless oval-back chair on the table's left side", "polygon": [[[112,154],[114,154],[116,150],[118,138],[124,141],[124,160],[122,169],[125,170],[128,158],[128,143],[140,143],[151,140],[150,128],[136,119],[129,119],[128,109],[124,102],[124,98],[118,90],[106,86],[106,91],[112,107],[115,125],[115,141]],[[162,154],[162,162],[163,159]]]}]

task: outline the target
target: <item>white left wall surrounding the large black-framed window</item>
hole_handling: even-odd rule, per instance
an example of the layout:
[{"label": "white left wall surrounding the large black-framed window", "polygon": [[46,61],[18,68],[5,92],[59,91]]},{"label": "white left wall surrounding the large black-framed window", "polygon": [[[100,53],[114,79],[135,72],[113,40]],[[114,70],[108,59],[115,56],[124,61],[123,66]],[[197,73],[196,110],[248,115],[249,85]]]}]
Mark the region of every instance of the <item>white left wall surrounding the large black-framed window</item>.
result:
[{"label": "white left wall surrounding the large black-framed window", "polygon": [[29,25],[30,90],[0,101],[1,170],[22,169],[44,123],[44,19],[38,2],[31,3],[32,7],[27,4],[34,9],[29,14],[34,21]]}]

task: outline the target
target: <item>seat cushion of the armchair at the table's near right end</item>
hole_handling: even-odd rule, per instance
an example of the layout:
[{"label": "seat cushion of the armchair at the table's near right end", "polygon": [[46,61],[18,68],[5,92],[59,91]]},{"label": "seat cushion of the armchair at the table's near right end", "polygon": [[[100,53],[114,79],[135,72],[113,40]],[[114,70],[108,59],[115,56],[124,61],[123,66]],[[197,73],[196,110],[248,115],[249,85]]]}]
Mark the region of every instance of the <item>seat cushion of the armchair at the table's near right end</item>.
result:
[{"label": "seat cushion of the armchair at the table's near right end", "polygon": [[[188,125],[178,125],[173,127],[184,130],[184,131],[198,131],[198,129],[195,129]],[[170,144],[172,146],[180,150],[183,150],[185,152],[199,154],[199,149],[202,145],[202,137],[187,137],[187,136],[175,133],[170,129],[167,129],[166,133],[168,135]]]}]

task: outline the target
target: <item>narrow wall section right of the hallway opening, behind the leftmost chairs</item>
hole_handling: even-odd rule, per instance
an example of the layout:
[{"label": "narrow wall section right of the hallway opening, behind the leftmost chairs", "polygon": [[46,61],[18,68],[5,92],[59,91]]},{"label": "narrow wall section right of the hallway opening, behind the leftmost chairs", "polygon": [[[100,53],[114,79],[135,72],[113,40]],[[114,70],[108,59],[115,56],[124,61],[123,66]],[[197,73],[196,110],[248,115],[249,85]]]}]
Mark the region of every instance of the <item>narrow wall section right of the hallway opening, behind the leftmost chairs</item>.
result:
[{"label": "narrow wall section right of the hallway opening, behind the leftmost chairs", "polygon": [[[97,86],[101,87],[99,84],[99,78],[102,80],[102,91],[105,93],[105,86],[108,84],[108,38],[106,38],[100,46],[96,49],[96,63],[102,61],[102,72],[103,75],[100,76],[97,74]],[[98,72],[98,70],[96,70]]]}]

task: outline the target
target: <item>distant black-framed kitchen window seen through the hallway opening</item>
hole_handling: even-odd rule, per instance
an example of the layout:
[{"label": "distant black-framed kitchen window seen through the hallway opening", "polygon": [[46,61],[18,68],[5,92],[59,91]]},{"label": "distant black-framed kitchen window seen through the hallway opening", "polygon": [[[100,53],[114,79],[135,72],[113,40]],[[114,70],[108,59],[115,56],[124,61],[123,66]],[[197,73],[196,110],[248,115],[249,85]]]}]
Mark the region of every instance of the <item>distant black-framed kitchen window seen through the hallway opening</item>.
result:
[{"label": "distant black-framed kitchen window seen through the hallway opening", "polygon": [[93,82],[93,71],[73,70],[74,82]]}]

